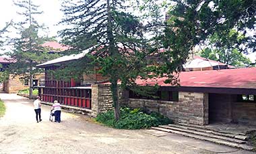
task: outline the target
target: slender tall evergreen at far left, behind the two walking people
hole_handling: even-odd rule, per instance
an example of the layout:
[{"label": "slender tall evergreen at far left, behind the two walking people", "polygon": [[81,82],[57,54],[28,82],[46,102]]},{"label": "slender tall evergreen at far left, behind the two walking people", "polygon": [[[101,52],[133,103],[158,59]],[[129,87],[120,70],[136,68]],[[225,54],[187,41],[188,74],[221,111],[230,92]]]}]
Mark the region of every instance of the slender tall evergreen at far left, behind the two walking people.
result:
[{"label": "slender tall evergreen at far left, behind the two walking people", "polygon": [[18,12],[18,15],[24,18],[19,23],[15,23],[15,27],[20,31],[20,37],[13,39],[15,50],[7,53],[16,61],[8,70],[13,76],[22,75],[24,78],[29,78],[30,98],[32,98],[33,77],[39,71],[36,65],[51,59],[53,55],[47,54],[40,46],[43,39],[38,36],[38,29],[42,27],[34,17],[42,13],[38,11],[39,6],[34,5],[32,0],[17,1],[14,4],[23,10]]}]

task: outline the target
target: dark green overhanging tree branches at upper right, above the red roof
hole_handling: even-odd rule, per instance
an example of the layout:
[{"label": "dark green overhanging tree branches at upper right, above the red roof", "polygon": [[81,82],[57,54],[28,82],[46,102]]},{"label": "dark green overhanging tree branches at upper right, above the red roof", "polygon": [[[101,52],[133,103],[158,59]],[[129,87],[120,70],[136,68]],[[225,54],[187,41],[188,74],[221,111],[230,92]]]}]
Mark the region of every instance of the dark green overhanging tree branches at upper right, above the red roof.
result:
[{"label": "dark green overhanging tree branches at upper right, above the red roof", "polygon": [[255,1],[168,2],[168,19],[164,35],[160,37],[162,46],[169,49],[164,53],[164,58],[169,57],[170,61],[166,59],[166,65],[162,66],[166,74],[171,74],[173,67],[184,64],[195,46],[208,45],[211,38],[216,38],[212,42],[214,46],[230,53],[228,55],[255,49],[256,34],[248,35],[250,31],[255,31]]}]

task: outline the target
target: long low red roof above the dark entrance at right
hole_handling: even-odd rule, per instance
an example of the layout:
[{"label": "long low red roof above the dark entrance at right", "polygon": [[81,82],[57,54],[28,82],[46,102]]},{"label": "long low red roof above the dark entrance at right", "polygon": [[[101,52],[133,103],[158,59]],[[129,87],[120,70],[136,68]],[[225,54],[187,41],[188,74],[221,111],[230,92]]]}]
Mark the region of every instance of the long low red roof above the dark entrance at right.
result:
[{"label": "long low red roof above the dark entrance at right", "polygon": [[[236,68],[227,70],[205,70],[181,72],[181,86],[212,88],[256,88],[256,68]],[[166,78],[136,80],[139,85],[171,86],[164,84]]]}]

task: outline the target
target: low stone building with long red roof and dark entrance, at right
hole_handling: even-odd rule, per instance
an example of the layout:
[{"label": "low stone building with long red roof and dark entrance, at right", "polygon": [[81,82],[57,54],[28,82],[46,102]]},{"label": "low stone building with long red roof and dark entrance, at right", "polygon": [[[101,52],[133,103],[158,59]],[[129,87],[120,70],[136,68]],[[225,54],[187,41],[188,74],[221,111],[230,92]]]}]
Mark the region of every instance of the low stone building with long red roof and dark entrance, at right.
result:
[{"label": "low stone building with long red roof and dark entrance, at right", "polygon": [[181,85],[176,87],[164,84],[165,78],[137,80],[141,86],[158,83],[164,99],[130,94],[129,106],[160,112],[179,123],[256,125],[255,74],[256,68],[181,72]]}]

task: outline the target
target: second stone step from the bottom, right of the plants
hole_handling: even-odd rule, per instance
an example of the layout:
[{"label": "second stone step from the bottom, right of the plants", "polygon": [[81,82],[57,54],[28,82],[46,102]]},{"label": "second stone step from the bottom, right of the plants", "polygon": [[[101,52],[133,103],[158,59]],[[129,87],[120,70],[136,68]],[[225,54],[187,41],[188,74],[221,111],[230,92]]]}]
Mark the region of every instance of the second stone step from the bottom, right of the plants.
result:
[{"label": "second stone step from the bottom, right of the plants", "polygon": [[239,139],[232,139],[230,137],[223,137],[223,136],[219,136],[219,135],[213,135],[211,133],[205,133],[205,132],[201,132],[201,131],[193,131],[193,130],[189,130],[189,129],[182,129],[182,128],[177,128],[177,127],[172,127],[170,125],[162,125],[159,126],[160,128],[164,128],[164,129],[172,129],[174,131],[180,131],[180,132],[184,132],[184,133],[190,133],[190,134],[194,134],[194,135],[200,135],[203,137],[210,137],[212,139],[222,139],[224,141],[230,141],[232,143],[238,143],[238,144],[245,144],[246,142],[243,140],[239,140]]}]

